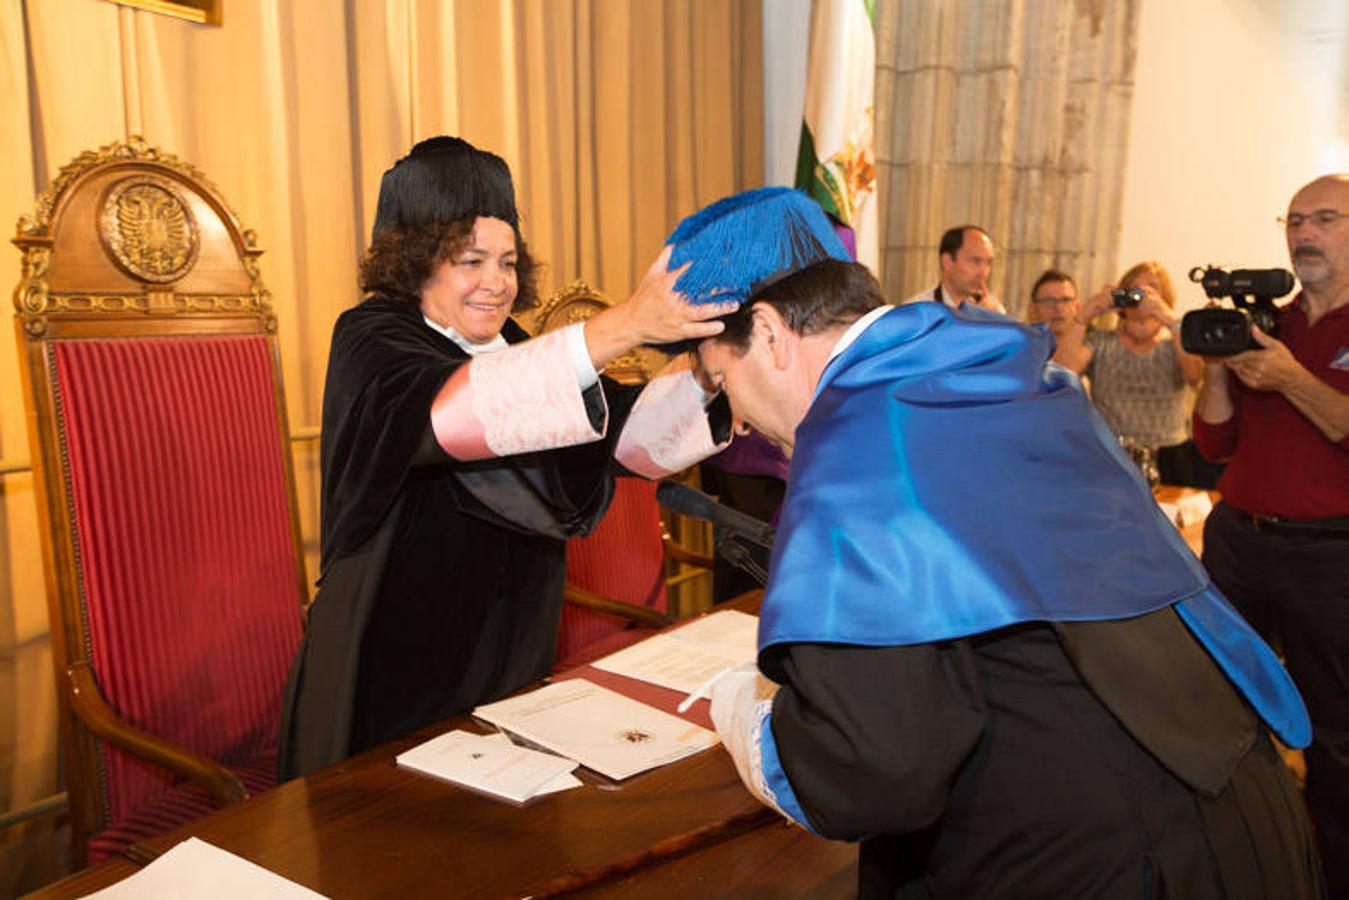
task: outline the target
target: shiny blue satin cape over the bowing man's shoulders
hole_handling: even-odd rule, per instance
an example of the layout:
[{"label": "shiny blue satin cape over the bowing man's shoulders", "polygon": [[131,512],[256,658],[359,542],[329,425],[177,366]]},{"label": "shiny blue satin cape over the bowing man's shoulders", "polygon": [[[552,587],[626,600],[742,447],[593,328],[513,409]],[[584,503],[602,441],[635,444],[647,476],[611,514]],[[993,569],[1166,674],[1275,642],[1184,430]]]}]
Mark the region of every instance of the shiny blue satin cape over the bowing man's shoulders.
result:
[{"label": "shiny blue satin cape over the bowing man's shoulders", "polygon": [[1041,328],[913,304],[828,364],[796,432],[759,652],[1174,606],[1283,742],[1304,746],[1291,679],[1052,352]]}]

